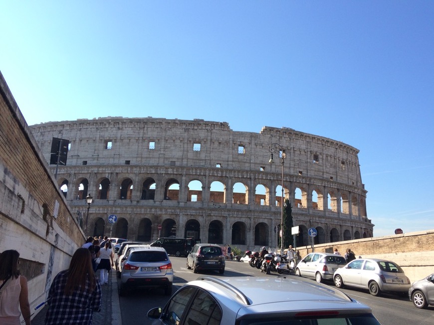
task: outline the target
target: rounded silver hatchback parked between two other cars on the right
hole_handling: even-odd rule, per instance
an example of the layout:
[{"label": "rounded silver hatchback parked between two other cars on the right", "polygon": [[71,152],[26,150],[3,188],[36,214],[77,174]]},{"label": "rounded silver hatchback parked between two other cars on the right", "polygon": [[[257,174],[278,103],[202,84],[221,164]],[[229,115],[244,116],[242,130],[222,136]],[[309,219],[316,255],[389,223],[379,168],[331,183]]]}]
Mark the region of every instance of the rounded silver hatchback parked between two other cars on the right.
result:
[{"label": "rounded silver hatchback parked between two other cars on the right", "polygon": [[351,261],[334,274],[335,286],[369,289],[373,296],[381,292],[400,293],[407,296],[410,280],[403,269],[392,261],[377,258],[359,258]]}]

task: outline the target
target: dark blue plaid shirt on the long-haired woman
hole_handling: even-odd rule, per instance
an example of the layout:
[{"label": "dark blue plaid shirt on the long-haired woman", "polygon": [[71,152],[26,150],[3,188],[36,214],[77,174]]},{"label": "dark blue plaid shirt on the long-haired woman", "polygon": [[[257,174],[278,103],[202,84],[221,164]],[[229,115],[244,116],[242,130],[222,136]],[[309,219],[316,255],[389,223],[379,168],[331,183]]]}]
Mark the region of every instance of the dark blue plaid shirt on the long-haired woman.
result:
[{"label": "dark blue plaid shirt on the long-haired woman", "polygon": [[51,284],[45,325],[91,325],[92,313],[101,311],[101,286],[98,280],[91,294],[90,283],[86,281],[84,291],[74,290],[71,296],[65,296],[66,279],[67,270],[60,271]]}]

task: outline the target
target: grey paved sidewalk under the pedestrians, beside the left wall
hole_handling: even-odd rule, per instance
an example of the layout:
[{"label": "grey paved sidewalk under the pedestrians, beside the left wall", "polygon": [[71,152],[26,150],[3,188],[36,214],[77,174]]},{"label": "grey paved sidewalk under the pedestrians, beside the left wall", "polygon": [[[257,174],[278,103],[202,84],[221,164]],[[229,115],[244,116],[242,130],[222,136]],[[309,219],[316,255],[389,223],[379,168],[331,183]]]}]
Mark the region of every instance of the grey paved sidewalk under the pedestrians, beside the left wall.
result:
[{"label": "grey paved sidewalk under the pedestrians, beside the left wall", "polygon": [[[122,325],[121,309],[119,307],[118,281],[116,271],[112,269],[107,285],[101,286],[101,312],[93,313],[92,325]],[[31,320],[32,325],[44,325],[45,314],[48,307],[42,310]],[[30,311],[33,312],[33,311]]]}]

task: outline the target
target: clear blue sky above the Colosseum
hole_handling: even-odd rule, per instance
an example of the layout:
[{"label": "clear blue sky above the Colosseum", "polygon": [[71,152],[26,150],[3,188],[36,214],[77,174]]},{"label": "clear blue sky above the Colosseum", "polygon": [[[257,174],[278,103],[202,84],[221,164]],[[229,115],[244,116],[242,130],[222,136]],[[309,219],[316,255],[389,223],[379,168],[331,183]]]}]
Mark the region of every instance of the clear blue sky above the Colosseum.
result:
[{"label": "clear blue sky above the Colosseum", "polygon": [[105,116],[291,127],[360,150],[374,236],[434,229],[434,1],[6,1],[29,125]]}]

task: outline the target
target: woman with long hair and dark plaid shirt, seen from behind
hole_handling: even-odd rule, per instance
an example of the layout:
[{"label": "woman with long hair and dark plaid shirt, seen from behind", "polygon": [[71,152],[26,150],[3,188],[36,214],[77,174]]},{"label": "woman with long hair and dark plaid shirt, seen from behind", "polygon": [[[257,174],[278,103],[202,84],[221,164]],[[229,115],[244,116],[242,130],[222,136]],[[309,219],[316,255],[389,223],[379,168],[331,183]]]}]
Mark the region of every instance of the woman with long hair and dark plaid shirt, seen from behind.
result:
[{"label": "woman with long hair and dark plaid shirt, seen from behind", "polygon": [[67,270],[53,280],[47,298],[45,325],[91,325],[101,310],[101,286],[92,269],[90,251],[78,248]]}]

